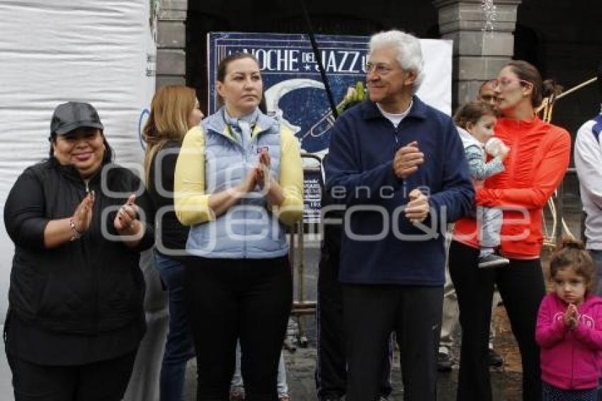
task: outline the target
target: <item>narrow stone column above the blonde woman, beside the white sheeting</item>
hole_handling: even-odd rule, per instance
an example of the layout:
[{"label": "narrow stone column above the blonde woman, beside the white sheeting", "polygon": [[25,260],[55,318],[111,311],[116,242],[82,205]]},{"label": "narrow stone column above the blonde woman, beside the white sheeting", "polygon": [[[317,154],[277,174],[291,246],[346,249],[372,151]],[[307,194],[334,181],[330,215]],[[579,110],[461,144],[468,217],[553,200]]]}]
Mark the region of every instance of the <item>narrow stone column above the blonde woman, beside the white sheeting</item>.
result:
[{"label": "narrow stone column above the blonde woman, beside the white sheeting", "polygon": [[157,88],[186,84],[188,0],[161,0],[157,23]]}]

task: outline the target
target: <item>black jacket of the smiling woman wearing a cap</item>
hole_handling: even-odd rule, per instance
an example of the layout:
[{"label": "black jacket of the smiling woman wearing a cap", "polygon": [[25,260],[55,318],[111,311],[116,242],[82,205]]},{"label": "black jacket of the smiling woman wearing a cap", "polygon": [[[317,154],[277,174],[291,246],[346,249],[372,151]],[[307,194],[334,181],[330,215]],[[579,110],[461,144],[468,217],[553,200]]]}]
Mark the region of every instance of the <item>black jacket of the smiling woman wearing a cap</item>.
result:
[{"label": "black jacket of the smiling woman wearing a cap", "polygon": [[[95,191],[91,226],[80,239],[44,247],[50,220],[68,218]],[[152,213],[142,181],[128,169],[103,162],[88,186],[74,166],[56,159],[23,171],[4,207],[6,231],[15,243],[8,290],[11,312],[53,332],[97,334],[143,316],[144,278],[140,251],[153,244],[152,224],[136,249],[118,237],[113,219],[131,193],[137,193],[140,220]],[[114,235],[113,240],[108,235]]]}]

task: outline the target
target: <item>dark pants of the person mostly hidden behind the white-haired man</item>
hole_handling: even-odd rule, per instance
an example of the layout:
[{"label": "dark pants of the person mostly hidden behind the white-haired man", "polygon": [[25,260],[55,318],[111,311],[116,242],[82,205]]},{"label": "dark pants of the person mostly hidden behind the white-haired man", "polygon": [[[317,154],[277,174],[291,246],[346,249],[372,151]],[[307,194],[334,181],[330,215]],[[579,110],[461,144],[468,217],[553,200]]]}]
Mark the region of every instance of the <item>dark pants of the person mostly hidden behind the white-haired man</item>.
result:
[{"label": "dark pants of the person mostly hidden behind the white-haired man", "polygon": [[[339,282],[339,248],[322,246],[318,272],[316,389],[319,399],[340,398],[347,388],[346,339],[343,329],[343,290]],[[380,395],[391,394],[392,345],[382,355]]]}]

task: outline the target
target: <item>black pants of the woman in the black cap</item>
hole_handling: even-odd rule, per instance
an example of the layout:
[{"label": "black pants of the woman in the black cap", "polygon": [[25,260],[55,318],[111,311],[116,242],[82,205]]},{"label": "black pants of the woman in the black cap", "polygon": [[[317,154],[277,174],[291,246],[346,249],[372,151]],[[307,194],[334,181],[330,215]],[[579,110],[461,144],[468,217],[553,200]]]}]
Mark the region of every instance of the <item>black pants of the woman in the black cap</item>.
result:
[{"label": "black pants of the woman in the black cap", "polygon": [[119,401],[130,382],[136,351],[82,366],[37,365],[6,356],[15,401]]}]

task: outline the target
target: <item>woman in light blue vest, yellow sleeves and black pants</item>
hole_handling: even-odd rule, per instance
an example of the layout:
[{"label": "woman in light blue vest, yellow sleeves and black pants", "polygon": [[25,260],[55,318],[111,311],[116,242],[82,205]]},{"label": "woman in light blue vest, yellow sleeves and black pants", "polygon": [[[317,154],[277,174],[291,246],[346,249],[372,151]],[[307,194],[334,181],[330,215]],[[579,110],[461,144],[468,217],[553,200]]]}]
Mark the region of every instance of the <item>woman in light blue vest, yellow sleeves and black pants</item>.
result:
[{"label": "woman in light blue vest, yellow sleeves and black pants", "polygon": [[188,131],[174,178],[176,215],[191,226],[184,286],[198,399],[228,400],[239,338],[246,400],[278,400],[293,298],[285,228],[303,208],[299,145],[259,111],[252,55],[222,60],[216,89],[223,107]]}]

